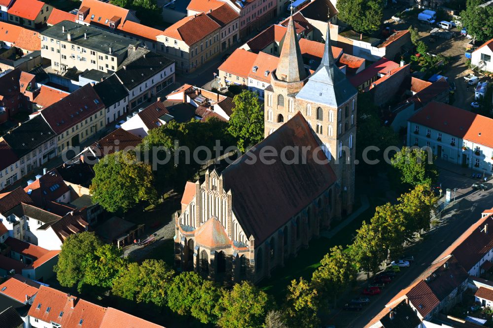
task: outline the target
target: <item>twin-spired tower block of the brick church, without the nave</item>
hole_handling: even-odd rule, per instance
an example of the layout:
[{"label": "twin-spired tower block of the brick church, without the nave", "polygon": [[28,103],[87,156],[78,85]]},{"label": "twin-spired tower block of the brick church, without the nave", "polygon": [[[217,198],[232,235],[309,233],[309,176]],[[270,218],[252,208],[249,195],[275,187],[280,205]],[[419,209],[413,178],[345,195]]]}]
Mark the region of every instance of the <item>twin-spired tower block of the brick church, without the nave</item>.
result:
[{"label": "twin-spired tower block of the brick church, without the nave", "polygon": [[[327,27],[325,40],[330,40]],[[330,42],[325,43],[322,62],[310,75],[303,65],[293,19],[289,19],[279,65],[265,89],[265,136],[279,129],[300,112],[316,133],[334,170],[336,217],[352,212],[357,90],[335,65]]]}]

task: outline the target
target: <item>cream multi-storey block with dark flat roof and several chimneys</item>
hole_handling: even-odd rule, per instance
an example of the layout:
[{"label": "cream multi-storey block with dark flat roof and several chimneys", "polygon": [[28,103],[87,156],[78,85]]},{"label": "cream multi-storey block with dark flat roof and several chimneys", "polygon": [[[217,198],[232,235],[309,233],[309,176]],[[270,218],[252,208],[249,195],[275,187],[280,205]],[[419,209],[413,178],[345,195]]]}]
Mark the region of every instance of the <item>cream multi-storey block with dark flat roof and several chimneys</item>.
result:
[{"label": "cream multi-storey block with dark flat roof and several chimneys", "polygon": [[139,41],[70,21],[53,25],[41,33],[41,57],[60,72],[75,67],[84,71],[116,71],[127,58],[129,46]]}]

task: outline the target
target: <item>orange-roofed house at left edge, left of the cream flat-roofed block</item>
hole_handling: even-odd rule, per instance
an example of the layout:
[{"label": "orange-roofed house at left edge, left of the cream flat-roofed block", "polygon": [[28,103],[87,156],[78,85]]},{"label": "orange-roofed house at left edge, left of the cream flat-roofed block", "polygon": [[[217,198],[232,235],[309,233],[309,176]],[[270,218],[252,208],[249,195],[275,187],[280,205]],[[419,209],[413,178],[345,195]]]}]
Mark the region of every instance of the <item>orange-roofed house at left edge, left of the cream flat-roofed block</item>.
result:
[{"label": "orange-roofed house at left edge, left of the cream flat-roofed block", "polygon": [[[41,50],[39,33],[23,28],[22,26],[0,22],[0,45],[3,49],[19,49],[22,55]],[[8,55],[9,52],[2,55]],[[20,54],[15,52],[15,54]]]}]

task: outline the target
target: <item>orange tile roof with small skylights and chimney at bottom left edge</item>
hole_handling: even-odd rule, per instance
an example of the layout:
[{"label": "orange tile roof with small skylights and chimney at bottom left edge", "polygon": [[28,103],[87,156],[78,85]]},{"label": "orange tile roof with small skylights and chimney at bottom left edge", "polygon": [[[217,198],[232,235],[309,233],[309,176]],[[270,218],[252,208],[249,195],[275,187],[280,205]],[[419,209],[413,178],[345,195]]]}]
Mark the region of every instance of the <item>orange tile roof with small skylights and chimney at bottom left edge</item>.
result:
[{"label": "orange tile roof with small skylights and chimney at bottom left edge", "polygon": [[[106,308],[102,306],[41,286],[28,315],[44,322],[57,323],[64,328],[80,328],[100,327],[105,313]],[[82,325],[79,325],[81,321]]]}]

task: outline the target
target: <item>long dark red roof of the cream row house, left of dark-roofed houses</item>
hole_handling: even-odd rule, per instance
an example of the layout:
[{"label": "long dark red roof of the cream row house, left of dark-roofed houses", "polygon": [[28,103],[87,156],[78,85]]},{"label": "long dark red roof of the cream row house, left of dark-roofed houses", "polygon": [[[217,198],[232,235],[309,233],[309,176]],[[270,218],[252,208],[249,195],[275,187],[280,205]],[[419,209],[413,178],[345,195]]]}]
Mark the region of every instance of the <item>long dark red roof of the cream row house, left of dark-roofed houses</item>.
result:
[{"label": "long dark red roof of the cream row house, left of dark-roofed houses", "polygon": [[43,109],[40,115],[55,133],[60,134],[103,109],[105,109],[103,101],[98,97],[92,85],[86,84]]}]

